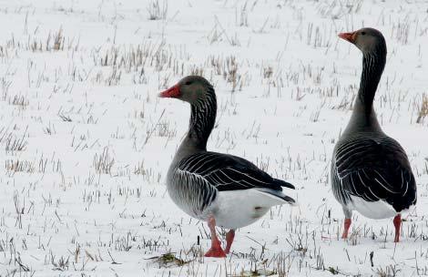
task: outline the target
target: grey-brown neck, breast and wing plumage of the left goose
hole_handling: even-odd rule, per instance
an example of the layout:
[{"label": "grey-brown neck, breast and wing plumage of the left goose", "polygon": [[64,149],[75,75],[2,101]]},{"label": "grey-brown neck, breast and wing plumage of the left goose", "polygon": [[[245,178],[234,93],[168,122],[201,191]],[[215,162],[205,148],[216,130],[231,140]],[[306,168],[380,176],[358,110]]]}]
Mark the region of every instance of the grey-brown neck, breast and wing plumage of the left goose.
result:
[{"label": "grey-brown neck, breast and wing plumage of the left goose", "polygon": [[[219,207],[212,204],[220,191],[258,189],[283,202],[294,203],[281,187],[294,189],[289,183],[276,180],[246,159],[207,151],[207,140],[214,127],[217,100],[213,87],[201,77],[186,77],[180,84],[196,78],[203,88],[189,90],[189,132],[182,141],[168,169],[167,188],[171,199],[190,216],[206,220]],[[194,84],[194,83],[193,83]]]}]

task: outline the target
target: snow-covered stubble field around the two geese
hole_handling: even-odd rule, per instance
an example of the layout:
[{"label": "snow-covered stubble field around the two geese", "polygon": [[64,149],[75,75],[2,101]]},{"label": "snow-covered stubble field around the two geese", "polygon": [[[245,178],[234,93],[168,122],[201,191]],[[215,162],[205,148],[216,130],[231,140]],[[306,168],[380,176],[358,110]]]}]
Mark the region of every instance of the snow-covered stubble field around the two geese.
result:
[{"label": "snow-covered stubble field around the two geese", "polygon": [[[1,1],[0,26],[0,276],[428,275],[426,1]],[[398,244],[356,212],[342,241],[331,194],[362,69],[337,33],[362,26],[387,40],[375,108],[418,184]],[[164,185],[189,106],[157,94],[190,74],[218,95],[209,149],[297,187],[227,259]]]}]

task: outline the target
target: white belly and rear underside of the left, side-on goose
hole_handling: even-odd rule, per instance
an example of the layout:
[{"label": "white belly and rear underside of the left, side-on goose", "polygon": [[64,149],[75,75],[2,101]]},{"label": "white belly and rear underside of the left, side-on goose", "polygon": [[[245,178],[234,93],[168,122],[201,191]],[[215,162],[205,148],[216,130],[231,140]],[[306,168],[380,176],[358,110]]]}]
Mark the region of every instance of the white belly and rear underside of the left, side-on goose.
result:
[{"label": "white belly and rear underside of the left, side-on goose", "polygon": [[216,225],[238,229],[258,221],[270,210],[286,201],[257,189],[220,191],[211,210]]}]

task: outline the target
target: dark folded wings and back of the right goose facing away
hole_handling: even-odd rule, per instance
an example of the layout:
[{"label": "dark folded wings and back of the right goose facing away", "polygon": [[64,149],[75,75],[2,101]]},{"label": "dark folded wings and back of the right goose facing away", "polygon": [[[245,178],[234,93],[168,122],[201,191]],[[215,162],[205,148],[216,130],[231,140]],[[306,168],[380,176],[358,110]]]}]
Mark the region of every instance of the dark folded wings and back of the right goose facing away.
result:
[{"label": "dark folded wings and back of the right goose facing away", "polygon": [[342,141],[333,155],[333,191],[346,203],[350,196],[385,200],[395,210],[416,202],[416,184],[403,148],[389,137]]}]

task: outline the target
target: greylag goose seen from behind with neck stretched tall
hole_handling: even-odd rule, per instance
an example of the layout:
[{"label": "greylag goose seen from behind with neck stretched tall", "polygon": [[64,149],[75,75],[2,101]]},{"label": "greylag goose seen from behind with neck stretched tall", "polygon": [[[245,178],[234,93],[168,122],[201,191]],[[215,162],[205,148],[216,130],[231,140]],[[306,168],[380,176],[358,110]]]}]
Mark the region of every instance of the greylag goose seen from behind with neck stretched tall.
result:
[{"label": "greylag goose seen from behind with neck stretched tall", "polygon": [[360,90],[331,159],[332,191],[345,215],[342,238],[348,238],[352,210],[357,210],[371,219],[394,217],[398,242],[401,212],[416,204],[416,183],[404,149],[382,131],[372,105],[386,62],[385,39],[372,28],[339,37],[362,51]]}]

